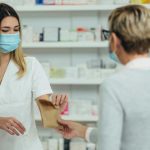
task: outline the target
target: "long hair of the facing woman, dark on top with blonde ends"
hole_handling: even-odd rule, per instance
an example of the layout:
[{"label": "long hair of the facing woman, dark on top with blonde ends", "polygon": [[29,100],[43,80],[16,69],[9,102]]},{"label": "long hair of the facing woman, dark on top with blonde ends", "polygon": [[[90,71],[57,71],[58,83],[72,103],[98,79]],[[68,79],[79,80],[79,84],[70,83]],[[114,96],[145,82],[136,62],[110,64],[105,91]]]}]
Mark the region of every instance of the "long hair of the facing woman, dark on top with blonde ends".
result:
[{"label": "long hair of the facing woman, dark on top with blonde ends", "polygon": [[[20,24],[20,19],[19,19],[17,12],[11,6],[4,4],[4,3],[0,3],[0,23],[5,17],[8,17],[8,16],[15,17],[18,20],[18,23],[20,26],[19,32],[20,32],[20,38],[21,38],[21,24]],[[18,77],[19,78],[23,77],[23,75],[26,73],[26,63],[25,63],[21,43],[19,44],[19,47],[15,51],[10,53],[10,56],[11,56],[11,59],[13,59],[13,61],[18,66],[18,72],[17,72]]]}]

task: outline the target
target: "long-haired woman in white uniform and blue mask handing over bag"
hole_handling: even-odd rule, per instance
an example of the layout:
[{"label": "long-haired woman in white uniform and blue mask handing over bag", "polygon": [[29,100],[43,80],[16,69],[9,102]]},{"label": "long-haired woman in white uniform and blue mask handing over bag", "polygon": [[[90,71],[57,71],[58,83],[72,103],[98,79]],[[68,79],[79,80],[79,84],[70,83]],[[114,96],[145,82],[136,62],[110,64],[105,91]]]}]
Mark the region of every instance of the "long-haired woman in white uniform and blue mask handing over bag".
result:
[{"label": "long-haired woman in white uniform and blue mask handing over bag", "polygon": [[33,115],[35,100],[52,96],[63,107],[67,95],[52,94],[44,70],[34,57],[24,57],[16,11],[0,3],[0,150],[42,150]]}]

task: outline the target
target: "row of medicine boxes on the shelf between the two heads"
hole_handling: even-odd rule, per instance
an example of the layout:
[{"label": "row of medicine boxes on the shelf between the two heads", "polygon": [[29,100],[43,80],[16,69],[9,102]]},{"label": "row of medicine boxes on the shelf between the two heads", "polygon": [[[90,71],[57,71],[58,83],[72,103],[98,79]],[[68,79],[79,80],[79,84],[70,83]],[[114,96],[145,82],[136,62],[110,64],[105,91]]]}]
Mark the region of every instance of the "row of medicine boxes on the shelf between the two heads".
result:
[{"label": "row of medicine boxes on the shelf between the two heads", "polygon": [[59,27],[31,27],[23,26],[23,42],[79,42],[79,41],[100,41],[100,27],[77,27],[75,29]]}]

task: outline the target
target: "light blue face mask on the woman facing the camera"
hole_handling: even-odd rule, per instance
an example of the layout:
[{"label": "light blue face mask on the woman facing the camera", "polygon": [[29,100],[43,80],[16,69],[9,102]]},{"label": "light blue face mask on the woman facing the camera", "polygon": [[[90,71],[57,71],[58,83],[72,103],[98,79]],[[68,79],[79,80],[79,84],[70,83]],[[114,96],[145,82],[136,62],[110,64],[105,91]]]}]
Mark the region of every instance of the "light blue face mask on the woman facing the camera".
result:
[{"label": "light blue face mask on the woman facing the camera", "polygon": [[15,34],[0,34],[0,52],[10,53],[15,51],[20,43],[19,33]]}]

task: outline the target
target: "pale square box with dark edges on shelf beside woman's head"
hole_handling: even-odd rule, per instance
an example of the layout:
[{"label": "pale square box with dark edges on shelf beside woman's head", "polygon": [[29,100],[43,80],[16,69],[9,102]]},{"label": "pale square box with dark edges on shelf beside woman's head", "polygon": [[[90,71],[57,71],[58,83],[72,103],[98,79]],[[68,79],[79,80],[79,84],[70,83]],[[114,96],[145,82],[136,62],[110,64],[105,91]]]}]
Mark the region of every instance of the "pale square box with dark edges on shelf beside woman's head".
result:
[{"label": "pale square box with dark edges on shelf beside woman's head", "polygon": [[45,42],[58,42],[58,28],[57,27],[44,27],[44,41]]}]

